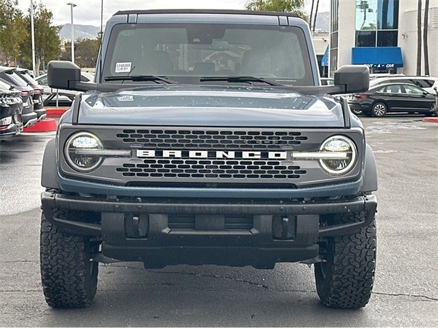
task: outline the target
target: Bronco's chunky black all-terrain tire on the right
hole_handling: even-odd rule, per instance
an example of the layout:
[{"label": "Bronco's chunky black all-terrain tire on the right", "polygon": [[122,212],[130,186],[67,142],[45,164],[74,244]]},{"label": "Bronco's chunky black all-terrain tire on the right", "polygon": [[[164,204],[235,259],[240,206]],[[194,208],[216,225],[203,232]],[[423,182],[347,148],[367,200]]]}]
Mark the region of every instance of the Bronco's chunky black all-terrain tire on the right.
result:
[{"label": "Bronco's chunky black all-terrain tire on the right", "polygon": [[[363,220],[365,212],[332,217],[331,224]],[[357,309],[371,297],[376,268],[376,224],[347,236],[327,238],[321,247],[324,262],[315,264],[316,290],[324,305]]]}]

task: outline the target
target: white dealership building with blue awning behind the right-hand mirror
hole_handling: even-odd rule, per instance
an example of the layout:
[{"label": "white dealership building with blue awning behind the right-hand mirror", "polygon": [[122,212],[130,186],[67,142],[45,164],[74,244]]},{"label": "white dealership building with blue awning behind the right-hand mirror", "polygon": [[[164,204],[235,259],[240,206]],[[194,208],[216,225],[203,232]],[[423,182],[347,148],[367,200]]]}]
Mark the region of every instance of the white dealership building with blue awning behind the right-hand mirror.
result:
[{"label": "white dealership building with blue awning behind the right-hand mirror", "polygon": [[[417,4],[417,0],[331,0],[330,76],[347,64],[368,65],[372,73],[415,75]],[[430,76],[438,77],[438,0],[430,0],[428,16]]]}]

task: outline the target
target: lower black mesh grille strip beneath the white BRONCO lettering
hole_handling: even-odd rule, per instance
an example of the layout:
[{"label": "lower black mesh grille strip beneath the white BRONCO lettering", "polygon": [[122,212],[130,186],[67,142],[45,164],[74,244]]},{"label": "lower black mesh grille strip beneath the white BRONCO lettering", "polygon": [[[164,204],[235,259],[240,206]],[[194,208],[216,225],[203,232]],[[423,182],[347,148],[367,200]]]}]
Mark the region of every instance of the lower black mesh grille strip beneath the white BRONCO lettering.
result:
[{"label": "lower black mesh grille strip beneath the white BRONCO lettering", "polygon": [[116,172],[143,178],[203,179],[299,179],[307,172],[282,161],[216,159],[145,159],[142,163],[125,163]]}]

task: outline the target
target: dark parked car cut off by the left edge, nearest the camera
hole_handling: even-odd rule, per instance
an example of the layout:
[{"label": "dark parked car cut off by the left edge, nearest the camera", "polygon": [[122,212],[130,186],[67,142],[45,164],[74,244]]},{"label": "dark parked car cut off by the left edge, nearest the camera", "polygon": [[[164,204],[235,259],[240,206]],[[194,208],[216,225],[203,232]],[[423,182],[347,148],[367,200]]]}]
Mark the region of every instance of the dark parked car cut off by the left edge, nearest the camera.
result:
[{"label": "dark parked car cut off by the left edge, nearest the camera", "polygon": [[0,140],[23,130],[21,92],[0,81]]}]

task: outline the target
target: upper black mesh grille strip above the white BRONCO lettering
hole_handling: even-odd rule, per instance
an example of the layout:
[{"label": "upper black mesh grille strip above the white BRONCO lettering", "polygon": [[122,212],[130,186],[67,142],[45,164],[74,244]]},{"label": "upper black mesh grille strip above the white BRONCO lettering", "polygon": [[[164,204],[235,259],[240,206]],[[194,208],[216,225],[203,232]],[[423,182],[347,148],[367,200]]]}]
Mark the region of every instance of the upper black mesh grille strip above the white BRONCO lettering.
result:
[{"label": "upper black mesh grille strip above the white BRONCO lettering", "polygon": [[141,143],[147,149],[278,150],[293,149],[307,137],[295,131],[232,130],[123,130],[124,143]]}]

